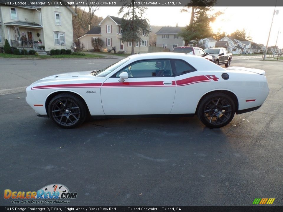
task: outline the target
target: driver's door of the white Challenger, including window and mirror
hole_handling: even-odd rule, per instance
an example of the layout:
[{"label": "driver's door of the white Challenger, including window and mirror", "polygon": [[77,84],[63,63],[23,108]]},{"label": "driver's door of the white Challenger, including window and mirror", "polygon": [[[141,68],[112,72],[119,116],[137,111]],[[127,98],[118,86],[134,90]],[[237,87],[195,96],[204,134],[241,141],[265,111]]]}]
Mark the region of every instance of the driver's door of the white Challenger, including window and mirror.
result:
[{"label": "driver's door of the white Challenger, including window and mirror", "polygon": [[[129,78],[119,82],[119,74]],[[169,114],[176,91],[169,59],[134,62],[105,80],[101,100],[105,115]]]}]

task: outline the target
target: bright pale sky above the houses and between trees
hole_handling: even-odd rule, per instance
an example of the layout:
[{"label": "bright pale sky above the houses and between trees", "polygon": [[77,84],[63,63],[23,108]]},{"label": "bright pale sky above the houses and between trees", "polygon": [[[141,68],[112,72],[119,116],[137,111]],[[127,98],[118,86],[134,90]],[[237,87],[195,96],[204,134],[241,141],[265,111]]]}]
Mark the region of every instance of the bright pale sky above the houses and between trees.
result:
[{"label": "bright pale sky above the houses and between trees", "polygon": [[[177,6],[163,6],[163,7],[148,7],[145,18],[149,20],[150,25],[158,26],[178,26],[184,27],[190,22],[190,13],[180,10],[183,7]],[[107,15],[118,16],[120,7],[100,7],[95,12],[97,16],[105,18]],[[220,30],[230,34],[236,29],[245,29],[247,34],[253,39],[253,42],[266,45],[268,34],[271,26],[273,7],[212,7],[212,12],[222,11],[224,14],[218,16],[214,23],[211,23],[211,27],[214,32]],[[277,46],[283,48],[283,7],[276,7],[275,10],[279,10],[279,14],[274,15],[272,30],[268,46],[275,46],[278,31],[279,33]],[[280,28],[280,29],[279,29]]]}]

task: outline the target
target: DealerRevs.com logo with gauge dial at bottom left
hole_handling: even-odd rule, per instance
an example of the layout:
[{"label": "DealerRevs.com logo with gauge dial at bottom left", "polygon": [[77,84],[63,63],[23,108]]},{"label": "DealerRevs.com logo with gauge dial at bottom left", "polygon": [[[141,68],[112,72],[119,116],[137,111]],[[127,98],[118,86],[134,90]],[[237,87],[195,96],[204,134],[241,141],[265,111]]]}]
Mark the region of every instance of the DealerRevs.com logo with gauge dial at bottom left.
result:
[{"label": "DealerRevs.com logo with gauge dial at bottom left", "polygon": [[70,203],[70,199],[77,198],[77,193],[71,193],[65,185],[50,184],[38,191],[11,191],[4,190],[4,199],[11,199],[12,204],[27,203]]}]

